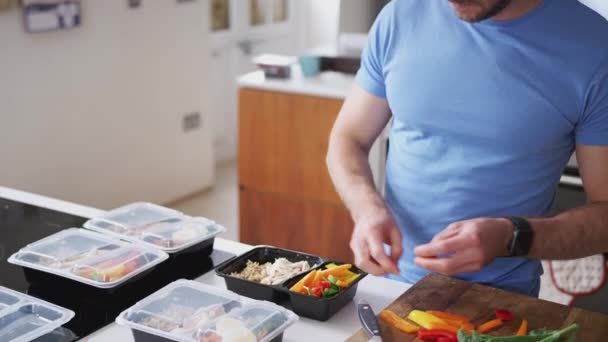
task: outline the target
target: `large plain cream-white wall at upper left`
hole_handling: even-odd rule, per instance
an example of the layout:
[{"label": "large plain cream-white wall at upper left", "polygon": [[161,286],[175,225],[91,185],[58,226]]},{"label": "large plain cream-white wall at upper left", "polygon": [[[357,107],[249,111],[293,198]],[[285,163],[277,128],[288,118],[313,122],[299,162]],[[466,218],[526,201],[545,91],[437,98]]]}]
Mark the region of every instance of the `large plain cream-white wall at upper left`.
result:
[{"label": "large plain cream-white wall at upper left", "polygon": [[205,104],[207,0],[82,4],[72,31],[0,13],[0,184],[102,208],[208,186],[210,134],[181,129]]}]

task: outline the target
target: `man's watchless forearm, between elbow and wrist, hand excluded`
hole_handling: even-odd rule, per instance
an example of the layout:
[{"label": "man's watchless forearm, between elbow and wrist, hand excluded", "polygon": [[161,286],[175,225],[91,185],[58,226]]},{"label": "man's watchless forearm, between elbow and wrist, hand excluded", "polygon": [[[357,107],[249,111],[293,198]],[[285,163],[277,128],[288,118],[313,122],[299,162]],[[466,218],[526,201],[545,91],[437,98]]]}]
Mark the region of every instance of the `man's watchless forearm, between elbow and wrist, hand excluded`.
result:
[{"label": "man's watchless forearm, between elbow and wrist, hand excluded", "polygon": [[374,186],[368,153],[353,142],[338,140],[331,143],[327,154],[327,165],[336,190],[355,221],[357,213],[365,208],[384,207],[384,200]]}]

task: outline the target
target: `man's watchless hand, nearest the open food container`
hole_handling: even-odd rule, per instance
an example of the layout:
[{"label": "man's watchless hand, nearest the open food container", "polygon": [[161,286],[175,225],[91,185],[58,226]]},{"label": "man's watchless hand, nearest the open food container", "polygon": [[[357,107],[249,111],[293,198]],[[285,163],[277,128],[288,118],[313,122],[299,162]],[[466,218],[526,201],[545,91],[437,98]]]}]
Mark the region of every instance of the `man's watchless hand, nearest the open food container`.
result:
[{"label": "man's watchless hand, nearest the open food container", "polygon": [[[403,253],[401,232],[386,208],[369,210],[355,220],[350,248],[355,264],[373,275],[399,274],[397,262]],[[390,256],[384,244],[391,246]]]}]

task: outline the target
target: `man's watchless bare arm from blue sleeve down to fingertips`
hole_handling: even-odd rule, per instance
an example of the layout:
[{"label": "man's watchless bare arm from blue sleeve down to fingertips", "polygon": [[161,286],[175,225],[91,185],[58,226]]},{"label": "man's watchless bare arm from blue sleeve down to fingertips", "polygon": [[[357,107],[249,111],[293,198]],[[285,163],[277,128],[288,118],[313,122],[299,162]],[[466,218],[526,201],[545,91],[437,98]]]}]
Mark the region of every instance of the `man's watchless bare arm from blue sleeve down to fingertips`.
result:
[{"label": "man's watchless bare arm from blue sleeve down to fingertips", "polygon": [[[359,268],[375,274],[399,273],[401,233],[377,192],[369,165],[374,140],[390,120],[385,99],[355,85],[331,133],[327,166],[350,210],[355,227],[350,247]],[[391,246],[390,256],[384,245]]]}]

